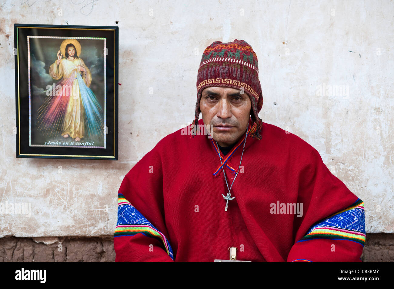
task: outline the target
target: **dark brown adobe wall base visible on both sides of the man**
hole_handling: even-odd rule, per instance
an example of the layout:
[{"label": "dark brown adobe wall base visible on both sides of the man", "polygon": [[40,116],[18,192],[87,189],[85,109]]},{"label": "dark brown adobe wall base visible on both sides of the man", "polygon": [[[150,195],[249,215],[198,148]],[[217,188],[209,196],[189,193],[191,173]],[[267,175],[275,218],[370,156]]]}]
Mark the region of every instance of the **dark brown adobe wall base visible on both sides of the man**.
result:
[{"label": "dark brown adobe wall base visible on both sides of the man", "polygon": [[[367,234],[361,259],[393,262],[394,234]],[[0,262],[33,261],[113,262],[113,237],[0,238]]]}]

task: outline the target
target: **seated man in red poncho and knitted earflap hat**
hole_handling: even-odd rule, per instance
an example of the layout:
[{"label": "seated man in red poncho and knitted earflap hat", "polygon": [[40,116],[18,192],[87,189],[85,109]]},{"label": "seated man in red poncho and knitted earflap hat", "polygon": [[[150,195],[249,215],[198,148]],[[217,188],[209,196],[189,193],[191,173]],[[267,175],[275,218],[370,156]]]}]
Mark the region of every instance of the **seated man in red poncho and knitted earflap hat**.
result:
[{"label": "seated man in red poncho and knitted earflap hat", "polygon": [[263,123],[262,104],[251,46],[208,46],[193,124],[121,184],[116,261],[228,260],[230,247],[238,261],[361,261],[363,202],[311,145]]}]

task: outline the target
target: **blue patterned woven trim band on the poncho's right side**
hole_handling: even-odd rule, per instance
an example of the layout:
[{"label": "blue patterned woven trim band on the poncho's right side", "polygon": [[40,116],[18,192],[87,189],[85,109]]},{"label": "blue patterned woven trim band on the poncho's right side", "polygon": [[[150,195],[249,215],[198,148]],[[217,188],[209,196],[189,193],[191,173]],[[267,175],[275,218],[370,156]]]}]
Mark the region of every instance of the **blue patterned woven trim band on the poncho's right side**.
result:
[{"label": "blue patterned woven trim band on the poncho's right side", "polygon": [[311,239],[349,240],[364,246],[364,202],[358,199],[349,208],[312,226],[298,242]]}]

